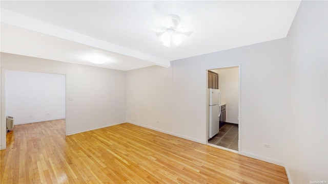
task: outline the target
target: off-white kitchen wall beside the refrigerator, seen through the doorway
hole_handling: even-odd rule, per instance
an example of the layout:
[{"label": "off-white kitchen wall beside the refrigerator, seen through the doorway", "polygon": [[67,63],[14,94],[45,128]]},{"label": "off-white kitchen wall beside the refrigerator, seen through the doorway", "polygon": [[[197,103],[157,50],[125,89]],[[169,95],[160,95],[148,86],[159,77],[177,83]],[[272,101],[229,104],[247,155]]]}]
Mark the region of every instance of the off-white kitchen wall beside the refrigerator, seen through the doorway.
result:
[{"label": "off-white kitchen wall beside the refrigerator, seen through the doorway", "polygon": [[212,70],[219,74],[221,102],[226,104],[226,122],[238,124],[239,68]]}]

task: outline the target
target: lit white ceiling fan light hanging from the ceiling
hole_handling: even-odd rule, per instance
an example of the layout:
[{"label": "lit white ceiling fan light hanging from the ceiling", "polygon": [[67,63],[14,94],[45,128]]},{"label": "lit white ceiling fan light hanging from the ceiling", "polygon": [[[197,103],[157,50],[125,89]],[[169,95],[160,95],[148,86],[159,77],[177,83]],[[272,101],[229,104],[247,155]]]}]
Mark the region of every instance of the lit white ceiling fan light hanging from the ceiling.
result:
[{"label": "lit white ceiling fan light hanging from the ceiling", "polygon": [[171,43],[179,45],[183,39],[189,37],[193,32],[186,32],[180,25],[180,17],[170,14],[164,17],[162,28],[158,29],[156,36],[162,41],[165,47],[170,47]]}]

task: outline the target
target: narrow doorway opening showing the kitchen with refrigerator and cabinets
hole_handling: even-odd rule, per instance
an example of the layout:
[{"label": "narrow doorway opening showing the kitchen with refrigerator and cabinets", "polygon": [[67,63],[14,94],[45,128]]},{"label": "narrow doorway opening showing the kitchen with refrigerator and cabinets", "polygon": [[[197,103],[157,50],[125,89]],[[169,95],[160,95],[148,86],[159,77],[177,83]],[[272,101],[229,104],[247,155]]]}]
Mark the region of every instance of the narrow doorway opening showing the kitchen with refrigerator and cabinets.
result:
[{"label": "narrow doorway opening showing the kitchen with refrigerator and cabinets", "polygon": [[239,65],[208,70],[207,83],[208,145],[239,152]]}]

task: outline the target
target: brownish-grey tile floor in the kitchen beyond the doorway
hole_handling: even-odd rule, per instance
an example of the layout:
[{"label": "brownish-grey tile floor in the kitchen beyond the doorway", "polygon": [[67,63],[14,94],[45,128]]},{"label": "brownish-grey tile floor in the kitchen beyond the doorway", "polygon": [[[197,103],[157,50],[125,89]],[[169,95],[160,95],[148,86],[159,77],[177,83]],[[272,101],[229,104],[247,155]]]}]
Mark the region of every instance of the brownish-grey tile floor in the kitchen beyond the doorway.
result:
[{"label": "brownish-grey tile floor in the kitchen beyond the doorway", "polygon": [[209,143],[238,151],[238,126],[223,125],[219,133],[209,140]]}]

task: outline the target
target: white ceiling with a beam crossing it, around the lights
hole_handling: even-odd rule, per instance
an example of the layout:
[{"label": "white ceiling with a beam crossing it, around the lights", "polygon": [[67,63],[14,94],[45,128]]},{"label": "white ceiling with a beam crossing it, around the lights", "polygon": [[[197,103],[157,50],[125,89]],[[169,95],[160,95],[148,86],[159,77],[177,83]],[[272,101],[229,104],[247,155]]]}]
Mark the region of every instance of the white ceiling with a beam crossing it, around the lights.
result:
[{"label": "white ceiling with a beam crossing it, around the lights", "polygon": [[[300,1],[1,1],[1,52],[128,71],[286,37]],[[164,47],[168,14],[193,34]],[[104,64],[90,63],[101,55]]]}]

